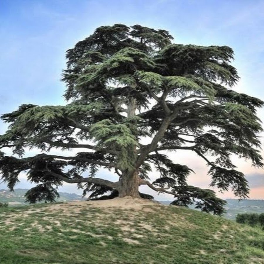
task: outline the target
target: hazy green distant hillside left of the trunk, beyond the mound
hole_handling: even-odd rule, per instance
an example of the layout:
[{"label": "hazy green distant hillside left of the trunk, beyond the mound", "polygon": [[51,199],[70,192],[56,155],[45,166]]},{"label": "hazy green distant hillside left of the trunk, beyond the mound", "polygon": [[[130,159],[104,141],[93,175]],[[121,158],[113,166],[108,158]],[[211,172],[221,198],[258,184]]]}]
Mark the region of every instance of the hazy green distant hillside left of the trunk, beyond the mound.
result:
[{"label": "hazy green distant hillside left of the trunk, beyond the mound", "polygon": [[[9,205],[16,204],[26,204],[25,203],[25,193],[28,189],[15,189],[14,192],[9,190],[0,189],[0,202],[8,202]],[[63,201],[82,201],[84,200],[80,195],[75,193],[59,192],[60,198],[57,199],[57,202]]]}]

